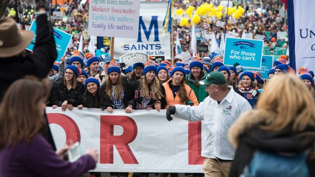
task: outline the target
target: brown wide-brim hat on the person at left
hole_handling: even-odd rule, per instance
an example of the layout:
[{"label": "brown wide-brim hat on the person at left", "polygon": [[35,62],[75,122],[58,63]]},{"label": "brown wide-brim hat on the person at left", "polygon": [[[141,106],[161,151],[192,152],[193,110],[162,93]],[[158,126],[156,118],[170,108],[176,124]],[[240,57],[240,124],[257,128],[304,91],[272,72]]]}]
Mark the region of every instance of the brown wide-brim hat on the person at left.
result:
[{"label": "brown wide-brim hat on the person at left", "polygon": [[0,58],[21,53],[33,40],[32,31],[19,31],[13,19],[0,19]]}]

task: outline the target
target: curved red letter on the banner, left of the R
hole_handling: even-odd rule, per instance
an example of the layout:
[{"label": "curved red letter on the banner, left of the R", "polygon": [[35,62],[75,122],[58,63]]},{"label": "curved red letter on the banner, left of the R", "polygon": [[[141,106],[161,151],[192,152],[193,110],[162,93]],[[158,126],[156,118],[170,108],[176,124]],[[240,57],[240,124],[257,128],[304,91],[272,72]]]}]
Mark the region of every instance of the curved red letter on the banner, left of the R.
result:
[{"label": "curved red letter on the banner, left of the R", "polygon": [[47,119],[49,124],[57,124],[65,130],[66,142],[81,141],[79,127],[71,117],[59,113],[47,113]]}]

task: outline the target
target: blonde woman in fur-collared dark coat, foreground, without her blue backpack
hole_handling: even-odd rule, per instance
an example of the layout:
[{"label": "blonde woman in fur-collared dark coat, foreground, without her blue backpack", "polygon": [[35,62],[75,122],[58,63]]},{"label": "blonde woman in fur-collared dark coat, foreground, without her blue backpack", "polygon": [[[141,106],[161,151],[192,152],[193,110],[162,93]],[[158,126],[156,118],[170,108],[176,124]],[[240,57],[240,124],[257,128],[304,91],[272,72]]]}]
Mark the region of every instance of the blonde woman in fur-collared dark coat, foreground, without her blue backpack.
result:
[{"label": "blonde woman in fur-collared dark coat, foreground, without her blue backpack", "polygon": [[315,140],[314,107],[299,78],[293,74],[274,76],[256,109],[241,114],[230,128],[229,139],[236,148],[230,176],[242,174],[257,150],[298,155],[311,149]]}]

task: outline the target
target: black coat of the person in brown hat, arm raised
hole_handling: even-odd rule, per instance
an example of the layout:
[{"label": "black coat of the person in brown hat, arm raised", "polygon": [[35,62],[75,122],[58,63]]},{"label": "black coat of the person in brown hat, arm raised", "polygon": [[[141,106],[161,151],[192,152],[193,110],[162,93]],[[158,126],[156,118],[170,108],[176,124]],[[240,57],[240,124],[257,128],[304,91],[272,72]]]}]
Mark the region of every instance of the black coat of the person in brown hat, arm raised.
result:
[{"label": "black coat of the person in brown hat, arm raised", "polygon": [[8,87],[14,81],[34,75],[43,79],[47,76],[56,60],[57,51],[53,31],[47,15],[41,14],[36,19],[37,37],[33,54],[0,58],[0,101]]}]

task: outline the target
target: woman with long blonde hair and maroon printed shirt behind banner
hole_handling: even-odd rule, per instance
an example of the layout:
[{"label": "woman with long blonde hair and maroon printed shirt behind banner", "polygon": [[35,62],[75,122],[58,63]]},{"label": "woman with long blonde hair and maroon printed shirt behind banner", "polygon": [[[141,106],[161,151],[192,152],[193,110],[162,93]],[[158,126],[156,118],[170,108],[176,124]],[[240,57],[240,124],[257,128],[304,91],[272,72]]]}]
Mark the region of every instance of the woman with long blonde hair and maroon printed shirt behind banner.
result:
[{"label": "woman with long blonde hair and maroon printed shirt behind banner", "polygon": [[160,111],[166,106],[165,89],[159,79],[155,77],[156,67],[153,62],[147,62],[143,70],[143,76],[130,84],[125,95],[125,112],[130,113],[134,109],[156,109]]}]

